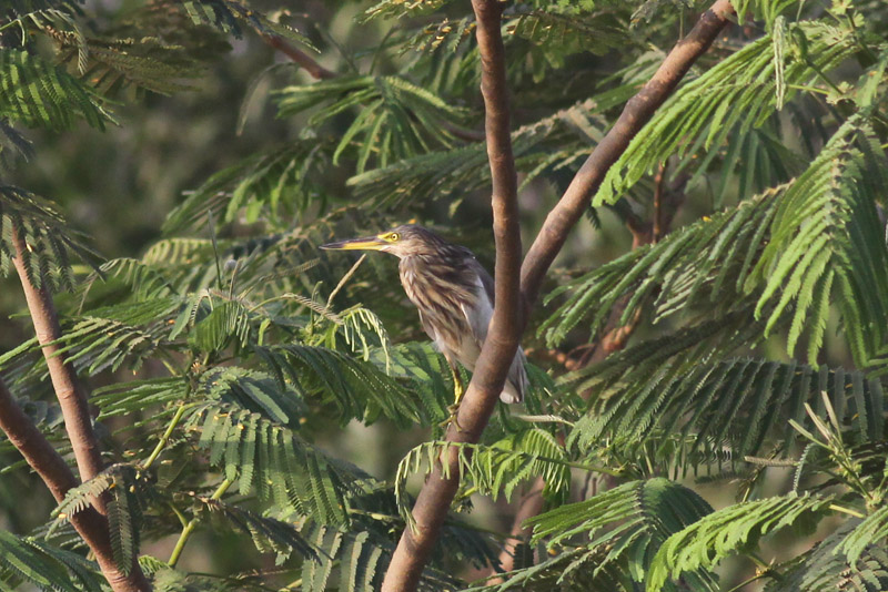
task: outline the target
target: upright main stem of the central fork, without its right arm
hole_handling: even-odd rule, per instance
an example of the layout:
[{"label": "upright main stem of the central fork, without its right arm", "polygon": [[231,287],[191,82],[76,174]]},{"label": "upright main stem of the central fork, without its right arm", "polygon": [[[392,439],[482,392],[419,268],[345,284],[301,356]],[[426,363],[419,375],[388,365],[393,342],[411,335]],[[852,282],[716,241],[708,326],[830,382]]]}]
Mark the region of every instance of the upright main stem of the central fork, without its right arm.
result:
[{"label": "upright main stem of the central fork, without its right arm", "polygon": [[[472,7],[478,22],[476,34],[482,61],[481,90],[484,95],[487,157],[492,176],[496,305],[472,382],[460,406],[460,429],[451,426],[447,431],[447,440],[452,442],[477,442],[481,439],[503,390],[522,331],[517,177],[509,135],[505,49],[500,22],[502,7],[497,0],[473,0]],[[456,450],[450,451],[446,458],[440,460],[447,463],[451,477],[444,479],[440,467],[428,477],[413,508],[416,530],[404,530],[383,581],[384,592],[415,590],[437,541],[460,486]]]}]

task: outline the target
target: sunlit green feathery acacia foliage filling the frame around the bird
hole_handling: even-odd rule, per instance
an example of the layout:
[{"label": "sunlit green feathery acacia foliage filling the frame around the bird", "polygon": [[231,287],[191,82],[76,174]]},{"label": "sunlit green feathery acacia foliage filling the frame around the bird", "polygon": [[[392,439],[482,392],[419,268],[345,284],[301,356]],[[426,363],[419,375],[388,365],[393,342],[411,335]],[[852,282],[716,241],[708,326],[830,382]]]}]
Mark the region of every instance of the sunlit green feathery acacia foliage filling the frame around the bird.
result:
[{"label": "sunlit green feathery acacia foliage filling the frame around the bird", "polygon": [[[683,180],[686,215],[603,265],[567,257],[525,345],[582,350],[640,319],[637,336],[566,374],[532,356],[547,367],[531,368],[525,412],[504,409],[470,447],[434,439],[452,379],[405,320],[392,266],[316,251],[334,234],[473,212],[484,195],[466,7],[363,4],[356,30],[398,27],[346,50],[307,22],[231,0],[154,0],[110,23],[78,2],[7,3],[7,164],[34,152],[24,129],[102,130],[122,121],[120,101],[193,90],[220,59],[206,48],[229,35],[320,50],[339,69],[321,81],[280,69],[292,71],[266,99],[292,137],[220,165],[139,257],[98,257],[59,208],[3,173],[0,265],[8,275],[16,228],[30,280],[70,293],[57,298],[57,345],[83,379],[105,385],[90,402],[112,445],[105,471],[46,523],[0,533],[10,558],[0,584],[101,589],[67,518],[105,493],[115,561],[127,570],[138,558],[157,590],[373,590],[410,528],[410,478],[452,452],[464,493],[455,509],[471,510],[470,493],[511,499],[544,477],[547,511],[527,522],[524,548],[545,552],[524,553],[502,582],[463,581],[467,565],[496,570],[504,539],[454,514],[427,590],[718,590],[733,578],[719,564],[736,555],[759,567],[767,590],[888,586],[888,10],[735,8],[748,27],[695,67],[589,211],[603,232],[618,232],[658,215],[653,195]],[[557,196],[693,13],[659,0],[508,7],[513,143],[527,195]],[[474,241],[471,224],[443,229]],[[67,452],[36,340],[0,356],[0,372]],[[422,426],[433,439],[371,474],[331,451],[351,422]],[[780,468],[791,479],[775,487]],[[11,462],[0,477],[22,470]],[[572,490],[578,477],[595,487]],[[714,510],[704,482],[737,503]],[[818,524],[831,532],[810,539]],[[276,567],[189,573],[179,560],[194,529],[234,533]],[[806,550],[765,555],[775,532]],[[181,543],[172,554],[143,554],[145,541],[171,534]]]}]

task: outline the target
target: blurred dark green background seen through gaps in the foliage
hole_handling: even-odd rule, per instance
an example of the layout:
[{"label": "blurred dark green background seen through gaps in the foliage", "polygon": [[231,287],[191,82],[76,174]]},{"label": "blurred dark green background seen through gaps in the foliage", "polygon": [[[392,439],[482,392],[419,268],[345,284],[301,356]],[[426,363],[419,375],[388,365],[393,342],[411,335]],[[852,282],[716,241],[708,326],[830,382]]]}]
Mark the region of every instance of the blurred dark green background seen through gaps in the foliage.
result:
[{"label": "blurred dark green background seen through gaps in the foliage", "polygon": [[[367,2],[300,2],[292,13],[283,17],[300,31],[323,48],[317,61],[325,68],[343,71],[352,65],[366,70],[371,63],[377,72],[396,70],[400,62],[410,59],[397,52],[374,54],[372,49],[390,33],[391,21],[381,19],[359,23],[355,16],[366,8]],[[99,20],[119,21],[125,19],[142,6],[135,1],[91,0],[87,11]],[[273,12],[278,3],[255,2],[256,8]],[[101,22],[95,23],[101,27]],[[675,21],[664,23],[663,38],[674,38]],[[652,28],[652,34],[657,34]],[[644,45],[645,40],[639,40]],[[569,58],[558,72],[551,72],[545,84],[563,84],[564,102],[582,96],[591,84],[593,74],[612,73],[613,60],[608,55],[596,57],[579,53]],[[516,68],[533,64],[517,64]],[[529,91],[523,93],[525,102],[515,104],[515,125],[534,121],[534,82],[525,76]],[[122,95],[112,111],[120,125],[100,132],[79,125],[64,133],[28,131],[27,136],[36,146],[33,160],[10,173],[13,183],[41,194],[57,204],[70,224],[89,235],[91,244],[105,257],[139,256],[147,245],[161,236],[161,226],[167,214],[182,201],[183,195],[200,186],[216,171],[239,162],[260,150],[300,137],[306,115],[276,119],[275,109],[270,102],[274,89],[293,81],[310,81],[307,74],[294,67],[282,53],[275,51],[260,37],[246,32],[242,39],[221,33],[206,33],[206,61],[204,71],[198,78],[186,81],[191,91],[171,96],[153,93]],[[526,89],[525,89],[526,90]],[[517,90],[516,90],[517,92]],[[470,122],[481,129],[480,96],[467,94],[464,104],[471,106],[475,119]],[[335,129],[336,121],[332,123]],[[342,122],[344,131],[347,121]],[[344,183],[347,174],[332,167],[325,183],[331,191],[331,202],[326,208],[354,202],[352,190]],[[569,177],[569,176],[568,176]],[[549,207],[556,202],[558,186],[546,183],[532,184],[521,195],[522,224],[525,247],[535,231],[541,226]],[[712,201],[705,182],[687,187],[685,205],[675,222],[695,220],[710,212]],[[411,211],[423,220],[437,223],[446,233],[460,228],[458,235],[451,237],[471,245],[478,257],[492,268],[493,253],[490,242],[488,198],[484,192],[466,195],[455,210],[444,202],[411,204]],[[397,212],[379,213],[386,220],[403,215]],[[632,235],[623,220],[610,210],[597,213],[599,224],[584,218],[572,233],[557,265],[569,268],[579,264],[585,268],[609,261],[630,247]],[[249,224],[225,228],[222,232],[236,235],[248,233]],[[382,228],[381,228],[382,229]],[[210,228],[195,228],[210,236]],[[350,261],[341,262],[351,264]],[[387,274],[395,280],[394,261],[379,261],[364,266],[364,278],[374,274]],[[563,272],[554,271],[554,274]],[[17,346],[31,335],[27,317],[22,317],[23,302],[14,278],[3,280],[0,294],[0,313],[4,330],[0,334],[0,350]],[[400,295],[395,310],[406,307]],[[402,308],[403,310],[403,308]],[[421,337],[422,331],[412,308],[400,317],[390,314],[383,318],[389,323],[392,337],[403,340],[406,337]],[[383,312],[384,313],[384,312]],[[382,313],[381,313],[382,314]],[[644,331],[642,331],[643,334]],[[533,331],[528,331],[525,347],[532,350],[535,343]],[[775,347],[774,356],[780,355]],[[847,353],[836,346],[830,358],[841,361]],[[545,357],[532,359],[541,366],[548,364]],[[145,372],[151,372],[147,368]],[[113,426],[111,426],[113,428]],[[317,427],[316,432],[324,430]],[[344,431],[329,430],[321,446],[334,456],[349,458],[363,469],[379,477],[391,476],[403,453],[425,440],[423,430],[395,432],[386,423],[363,427],[352,423]],[[3,461],[12,461],[6,455]],[[418,479],[418,478],[417,478]],[[775,488],[785,483],[788,474],[774,471]],[[30,481],[33,492],[30,502],[22,508],[14,492],[22,491],[22,480]],[[582,488],[577,488],[582,490]],[[718,499],[714,488],[708,500],[715,506],[724,506],[731,499]],[[503,504],[494,507],[486,500],[475,500],[477,511],[472,520],[485,528],[507,530],[511,517]],[[0,528],[23,532],[40,523],[52,508],[51,498],[39,482],[24,472],[17,471],[0,479]],[[260,559],[252,552],[244,552],[244,544],[228,544],[216,537],[200,534],[205,544],[192,543],[185,555],[184,567],[193,571],[226,571],[243,569],[255,564]],[[149,554],[165,557],[172,541],[155,543],[164,551],[144,549]],[[790,551],[791,552],[791,551]],[[266,558],[265,561],[273,561]],[[235,568],[232,568],[235,565]]]}]

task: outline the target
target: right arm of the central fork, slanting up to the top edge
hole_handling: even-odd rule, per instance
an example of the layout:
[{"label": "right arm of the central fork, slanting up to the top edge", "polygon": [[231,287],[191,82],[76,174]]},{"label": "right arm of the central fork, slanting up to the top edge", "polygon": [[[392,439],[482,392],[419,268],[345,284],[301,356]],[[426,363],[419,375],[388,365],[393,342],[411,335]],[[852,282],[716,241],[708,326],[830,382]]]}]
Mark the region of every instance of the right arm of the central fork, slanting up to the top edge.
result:
[{"label": "right arm of the central fork, slanting up to the top edge", "polygon": [[546,272],[564,246],[567,233],[598,191],[607,170],[675,90],[697,58],[709,48],[733,12],[729,0],[716,0],[703,13],[687,37],[673,48],[654,76],[626,103],[617,122],[574,176],[558,204],[546,216],[543,228],[524,259],[521,284],[526,306],[532,306],[536,300]]}]

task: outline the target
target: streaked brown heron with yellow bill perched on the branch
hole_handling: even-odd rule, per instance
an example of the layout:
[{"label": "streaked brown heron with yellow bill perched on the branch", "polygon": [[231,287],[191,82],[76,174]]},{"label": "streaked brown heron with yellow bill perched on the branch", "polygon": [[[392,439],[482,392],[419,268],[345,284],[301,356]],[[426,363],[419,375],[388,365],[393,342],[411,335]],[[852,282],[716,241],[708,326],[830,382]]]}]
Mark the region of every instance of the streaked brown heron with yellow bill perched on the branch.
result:
[{"label": "streaked brown heron with yellow bill perched on the branch", "polygon": [[[423,329],[447,360],[454,380],[450,420],[465,392],[457,363],[470,371],[481,355],[493,317],[491,274],[464,246],[416,224],[403,224],[374,236],[321,245],[326,251],[380,251],[398,257],[401,284],[420,312]],[[500,400],[517,404],[527,392],[524,351],[518,347]],[[448,421],[445,421],[448,422]],[[457,425],[458,428],[458,425]]]}]

